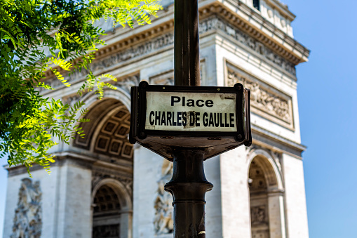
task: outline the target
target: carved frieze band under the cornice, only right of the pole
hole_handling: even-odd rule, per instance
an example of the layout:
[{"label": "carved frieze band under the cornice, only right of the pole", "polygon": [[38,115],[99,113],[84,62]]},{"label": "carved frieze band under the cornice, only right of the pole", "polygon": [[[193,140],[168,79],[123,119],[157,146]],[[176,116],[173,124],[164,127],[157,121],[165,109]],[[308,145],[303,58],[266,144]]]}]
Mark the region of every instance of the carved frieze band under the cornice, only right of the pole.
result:
[{"label": "carved frieze band under the cornice, only right of the pole", "polygon": [[270,62],[273,62],[275,65],[282,67],[283,70],[293,75],[296,74],[295,66],[291,62],[285,60],[284,58],[267,48],[267,46],[264,46],[259,41],[248,36],[248,34],[241,32],[241,30],[239,30],[238,28],[229,25],[227,22],[224,22],[219,18],[208,18],[207,20],[203,20],[202,22],[200,22],[200,34],[208,32],[211,29],[221,30],[230,37],[234,37],[234,39],[239,41],[241,44],[248,46],[248,48],[251,48],[253,51],[259,53]]}]

